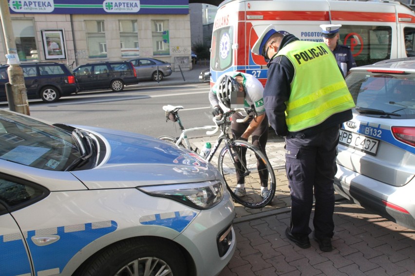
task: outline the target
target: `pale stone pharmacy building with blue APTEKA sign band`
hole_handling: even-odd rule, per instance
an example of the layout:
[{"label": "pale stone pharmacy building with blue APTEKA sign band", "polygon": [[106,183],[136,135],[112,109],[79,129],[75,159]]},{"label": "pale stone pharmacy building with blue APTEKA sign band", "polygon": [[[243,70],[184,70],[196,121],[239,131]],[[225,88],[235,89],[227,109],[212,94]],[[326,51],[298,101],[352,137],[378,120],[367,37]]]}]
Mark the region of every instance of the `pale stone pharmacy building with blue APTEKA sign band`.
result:
[{"label": "pale stone pharmacy building with blue APTEKA sign band", "polygon": [[[20,62],[154,57],[191,69],[189,0],[8,0]],[[1,38],[4,37],[1,32]],[[4,39],[0,63],[7,62]]]}]

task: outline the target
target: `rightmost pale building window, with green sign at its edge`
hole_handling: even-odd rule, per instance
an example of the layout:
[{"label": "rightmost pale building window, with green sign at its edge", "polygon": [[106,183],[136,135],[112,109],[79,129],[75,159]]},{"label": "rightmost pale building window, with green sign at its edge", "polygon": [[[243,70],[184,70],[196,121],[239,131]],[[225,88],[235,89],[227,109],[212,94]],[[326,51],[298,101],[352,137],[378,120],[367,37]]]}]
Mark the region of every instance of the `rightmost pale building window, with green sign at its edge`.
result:
[{"label": "rightmost pale building window, with green sign at its edge", "polygon": [[151,20],[153,55],[169,55],[169,20]]}]

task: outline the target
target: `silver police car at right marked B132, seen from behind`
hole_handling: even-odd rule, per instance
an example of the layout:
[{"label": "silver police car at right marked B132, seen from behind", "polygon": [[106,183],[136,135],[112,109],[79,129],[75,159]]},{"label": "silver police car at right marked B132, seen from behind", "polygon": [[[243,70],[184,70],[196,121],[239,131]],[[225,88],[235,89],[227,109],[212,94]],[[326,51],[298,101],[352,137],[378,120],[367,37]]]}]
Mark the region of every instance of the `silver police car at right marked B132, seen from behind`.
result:
[{"label": "silver police car at right marked B132, seen from behind", "polygon": [[353,68],[353,120],[340,129],[335,189],[415,229],[415,58]]}]

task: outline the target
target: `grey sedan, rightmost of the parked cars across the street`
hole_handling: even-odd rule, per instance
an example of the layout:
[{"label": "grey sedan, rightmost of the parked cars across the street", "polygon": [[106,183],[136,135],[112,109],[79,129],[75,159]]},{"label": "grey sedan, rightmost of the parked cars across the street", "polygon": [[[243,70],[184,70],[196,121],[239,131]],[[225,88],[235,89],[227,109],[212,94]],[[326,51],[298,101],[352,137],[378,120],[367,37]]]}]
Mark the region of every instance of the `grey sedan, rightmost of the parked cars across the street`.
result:
[{"label": "grey sedan, rightmost of the parked cars across the street", "polygon": [[140,80],[152,79],[157,82],[171,75],[171,65],[169,62],[147,57],[134,58],[129,61],[134,65],[137,77]]}]

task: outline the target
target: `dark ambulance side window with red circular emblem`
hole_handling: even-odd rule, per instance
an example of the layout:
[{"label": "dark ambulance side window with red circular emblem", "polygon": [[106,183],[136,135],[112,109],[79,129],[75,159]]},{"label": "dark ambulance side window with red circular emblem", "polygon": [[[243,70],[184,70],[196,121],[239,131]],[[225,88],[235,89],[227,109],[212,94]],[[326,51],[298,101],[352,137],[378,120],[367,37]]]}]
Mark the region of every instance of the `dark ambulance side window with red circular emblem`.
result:
[{"label": "dark ambulance side window with red circular emblem", "polygon": [[392,28],[389,26],[343,25],[340,43],[352,50],[357,66],[389,59],[392,48]]}]

